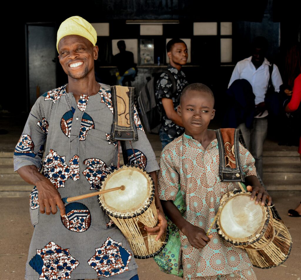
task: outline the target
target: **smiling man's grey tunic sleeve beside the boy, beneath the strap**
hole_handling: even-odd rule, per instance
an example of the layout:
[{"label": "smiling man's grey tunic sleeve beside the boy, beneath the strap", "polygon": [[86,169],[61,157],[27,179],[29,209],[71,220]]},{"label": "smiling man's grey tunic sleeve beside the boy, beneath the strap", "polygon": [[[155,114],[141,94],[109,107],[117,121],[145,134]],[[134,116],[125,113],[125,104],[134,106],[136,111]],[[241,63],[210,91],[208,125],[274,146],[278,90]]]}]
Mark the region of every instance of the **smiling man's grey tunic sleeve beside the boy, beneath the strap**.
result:
[{"label": "smiling man's grey tunic sleeve beside the boy, beneath the strap", "polygon": [[[138,140],[132,141],[132,146],[129,141],[125,142],[125,154],[129,164],[139,164],[146,172],[150,173],[159,170],[159,165],[156,160],[156,155],[148,141],[144,129],[141,125],[137,109],[134,106],[134,123],[138,133]],[[134,151],[133,151],[134,150]],[[135,152],[135,153],[134,153]],[[137,163],[137,160],[138,163]]]}]

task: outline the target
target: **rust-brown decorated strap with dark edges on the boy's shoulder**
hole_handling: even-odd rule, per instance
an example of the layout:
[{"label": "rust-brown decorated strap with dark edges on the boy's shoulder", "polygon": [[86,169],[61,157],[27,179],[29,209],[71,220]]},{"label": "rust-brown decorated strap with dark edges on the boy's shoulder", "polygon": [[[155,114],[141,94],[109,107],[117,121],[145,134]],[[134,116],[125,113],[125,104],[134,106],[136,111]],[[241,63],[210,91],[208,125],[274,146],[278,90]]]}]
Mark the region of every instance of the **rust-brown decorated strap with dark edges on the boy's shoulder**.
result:
[{"label": "rust-brown decorated strap with dark edges on the boy's shoulder", "polygon": [[246,146],[240,129],[221,128],[216,130],[219,144],[219,176],[222,182],[244,182],[240,165],[239,142]]}]

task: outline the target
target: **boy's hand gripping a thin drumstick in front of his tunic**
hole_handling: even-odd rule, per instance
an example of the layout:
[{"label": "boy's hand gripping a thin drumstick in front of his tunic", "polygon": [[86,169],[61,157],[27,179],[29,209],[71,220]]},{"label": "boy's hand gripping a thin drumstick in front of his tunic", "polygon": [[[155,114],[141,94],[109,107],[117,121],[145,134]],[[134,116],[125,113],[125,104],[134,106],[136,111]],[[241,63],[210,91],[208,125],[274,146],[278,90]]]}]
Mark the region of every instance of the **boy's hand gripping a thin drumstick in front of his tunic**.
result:
[{"label": "boy's hand gripping a thin drumstick in front of his tunic", "polygon": [[182,232],[187,236],[191,246],[197,249],[205,247],[210,241],[210,238],[206,236],[203,229],[198,226],[194,226],[189,222],[187,222],[187,225],[185,225],[185,229],[183,229]]}]

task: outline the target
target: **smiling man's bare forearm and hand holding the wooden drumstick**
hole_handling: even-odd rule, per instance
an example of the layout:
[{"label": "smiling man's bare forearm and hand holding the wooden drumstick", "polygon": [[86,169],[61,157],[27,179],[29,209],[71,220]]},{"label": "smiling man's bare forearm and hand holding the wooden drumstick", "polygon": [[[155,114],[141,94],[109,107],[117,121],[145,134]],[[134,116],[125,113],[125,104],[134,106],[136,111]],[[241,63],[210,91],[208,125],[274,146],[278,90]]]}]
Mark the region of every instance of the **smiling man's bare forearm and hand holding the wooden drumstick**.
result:
[{"label": "smiling man's bare forearm and hand holding the wooden drumstick", "polygon": [[57,207],[60,208],[61,216],[65,216],[65,205],[62,201],[61,195],[57,188],[47,179],[43,174],[39,173],[35,165],[22,166],[17,170],[21,178],[31,184],[35,185],[38,190],[38,202],[40,205],[40,212],[50,215],[57,213]]}]

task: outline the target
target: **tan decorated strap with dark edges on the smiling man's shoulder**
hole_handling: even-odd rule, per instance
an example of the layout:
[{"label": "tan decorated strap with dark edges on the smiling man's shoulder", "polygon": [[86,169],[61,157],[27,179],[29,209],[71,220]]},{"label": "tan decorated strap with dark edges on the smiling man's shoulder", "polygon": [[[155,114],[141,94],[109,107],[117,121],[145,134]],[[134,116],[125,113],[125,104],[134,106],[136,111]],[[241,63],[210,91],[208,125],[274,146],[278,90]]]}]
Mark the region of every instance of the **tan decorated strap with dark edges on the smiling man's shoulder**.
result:
[{"label": "tan decorated strap with dark edges on the smiling man's shoulder", "polygon": [[135,88],[111,86],[111,98],[114,107],[111,142],[138,140],[134,123],[134,94]]}]

